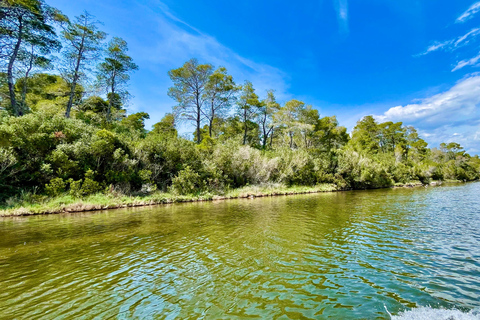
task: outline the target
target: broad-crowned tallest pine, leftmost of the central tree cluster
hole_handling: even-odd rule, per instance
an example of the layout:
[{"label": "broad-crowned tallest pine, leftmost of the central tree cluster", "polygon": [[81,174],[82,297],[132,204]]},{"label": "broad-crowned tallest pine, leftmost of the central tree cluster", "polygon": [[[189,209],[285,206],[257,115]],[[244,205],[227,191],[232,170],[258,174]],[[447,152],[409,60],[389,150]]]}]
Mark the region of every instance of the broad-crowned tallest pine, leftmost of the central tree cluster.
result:
[{"label": "broad-crowned tallest pine, leftmost of the central tree cluster", "polygon": [[173,87],[168,89],[168,95],[178,104],[174,107],[180,119],[190,121],[196,127],[197,144],[201,142],[201,125],[207,111],[205,108],[206,85],[212,74],[211,64],[199,64],[197,59],[191,59],[178,68],[168,72],[173,81]]}]

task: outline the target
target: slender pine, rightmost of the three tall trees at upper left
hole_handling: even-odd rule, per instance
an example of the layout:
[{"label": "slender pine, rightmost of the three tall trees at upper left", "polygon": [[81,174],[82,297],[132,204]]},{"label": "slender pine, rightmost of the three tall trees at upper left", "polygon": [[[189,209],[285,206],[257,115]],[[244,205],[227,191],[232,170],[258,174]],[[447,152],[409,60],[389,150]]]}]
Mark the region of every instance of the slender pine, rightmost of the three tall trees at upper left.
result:
[{"label": "slender pine, rightmost of the three tall trees at upper left", "polygon": [[[114,105],[122,105],[129,93],[126,90],[130,73],[138,70],[133,59],[127,55],[127,42],[114,37],[108,44],[105,60],[98,66],[98,82],[105,87],[108,97],[107,121],[110,121],[111,109]],[[115,98],[120,99],[115,103]]]}]

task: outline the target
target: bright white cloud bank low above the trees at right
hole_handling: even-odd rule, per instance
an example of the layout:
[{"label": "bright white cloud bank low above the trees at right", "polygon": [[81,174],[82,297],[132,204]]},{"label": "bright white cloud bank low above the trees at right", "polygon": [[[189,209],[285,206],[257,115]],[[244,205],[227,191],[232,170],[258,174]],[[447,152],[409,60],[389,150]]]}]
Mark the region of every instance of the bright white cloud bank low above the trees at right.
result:
[{"label": "bright white cloud bank low above the trees at right", "polygon": [[467,76],[445,92],[390,108],[375,118],[414,125],[434,145],[455,140],[472,152],[480,150],[480,74]]}]

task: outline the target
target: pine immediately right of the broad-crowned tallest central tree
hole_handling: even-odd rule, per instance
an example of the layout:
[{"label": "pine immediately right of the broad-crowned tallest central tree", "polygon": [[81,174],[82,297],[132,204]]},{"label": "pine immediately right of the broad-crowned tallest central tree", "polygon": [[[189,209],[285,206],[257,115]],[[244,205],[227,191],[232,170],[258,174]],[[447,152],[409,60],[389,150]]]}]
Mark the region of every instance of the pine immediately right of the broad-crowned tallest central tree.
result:
[{"label": "pine immediately right of the broad-crowned tallest central tree", "polygon": [[205,117],[208,120],[208,133],[213,137],[215,119],[224,116],[228,111],[238,88],[235,86],[233,77],[227,74],[227,69],[220,67],[210,75],[205,89],[205,100],[209,106]]}]

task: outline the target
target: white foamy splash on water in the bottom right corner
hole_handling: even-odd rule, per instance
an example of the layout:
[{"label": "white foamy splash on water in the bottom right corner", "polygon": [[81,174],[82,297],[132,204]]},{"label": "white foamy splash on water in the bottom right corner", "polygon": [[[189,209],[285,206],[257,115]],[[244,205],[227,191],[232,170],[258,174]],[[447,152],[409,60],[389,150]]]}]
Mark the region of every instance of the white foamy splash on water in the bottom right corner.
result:
[{"label": "white foamy splash on water in the bottom right corner", "polygon": [[416,308],[404,311],[396,316],[391,316],[392,320],[480,320],[480,310],[475,308],[470,312],[460,310]]}]

